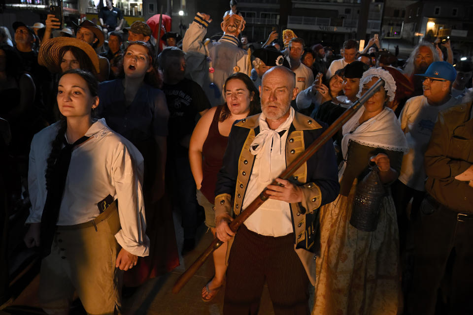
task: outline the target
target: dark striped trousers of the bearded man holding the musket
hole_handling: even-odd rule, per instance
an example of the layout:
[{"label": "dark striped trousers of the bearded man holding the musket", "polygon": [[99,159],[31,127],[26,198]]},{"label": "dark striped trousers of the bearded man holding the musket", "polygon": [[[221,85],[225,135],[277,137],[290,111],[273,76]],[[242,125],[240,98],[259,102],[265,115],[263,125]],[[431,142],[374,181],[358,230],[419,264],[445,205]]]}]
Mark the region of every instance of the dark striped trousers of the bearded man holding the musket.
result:
[{"label": "dark striped trousers of the bearded man holding the musket", "polygon": [[294,233],[264,236],[242,224],[229,257],[224,315],[258,314],[265,282],[275,315],[307,315],[309,280],[294,251]]}]

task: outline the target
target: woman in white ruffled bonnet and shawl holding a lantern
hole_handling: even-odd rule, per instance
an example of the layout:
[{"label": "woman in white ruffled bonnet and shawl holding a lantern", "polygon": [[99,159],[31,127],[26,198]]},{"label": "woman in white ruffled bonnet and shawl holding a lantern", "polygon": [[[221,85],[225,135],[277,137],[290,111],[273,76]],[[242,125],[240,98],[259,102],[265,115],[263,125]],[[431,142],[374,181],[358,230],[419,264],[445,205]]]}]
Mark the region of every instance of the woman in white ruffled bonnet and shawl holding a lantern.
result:
[{"label": "woman in white ruffled bonnet and shawl holding a lantern", "polygon": [[[407,143],[394,112],[396,84],[389,72],[371,68],[360,80],[361,97],[378,79],[384,84],[343,126],[337,199],[320,208],[321,253],[312,314],[397,314],[401,274],[396,210],[389,185],[399,176]],[[377,227],[358,230],[349,221],[356,187],[374,162],[386,195]]]}]

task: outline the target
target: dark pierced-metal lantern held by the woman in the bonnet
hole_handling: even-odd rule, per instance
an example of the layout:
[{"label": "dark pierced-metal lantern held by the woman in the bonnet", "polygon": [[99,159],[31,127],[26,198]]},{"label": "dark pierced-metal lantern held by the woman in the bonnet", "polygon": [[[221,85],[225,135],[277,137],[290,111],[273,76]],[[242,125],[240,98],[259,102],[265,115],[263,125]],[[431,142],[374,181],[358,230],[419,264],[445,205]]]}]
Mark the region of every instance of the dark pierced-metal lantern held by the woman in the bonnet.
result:
[{"label": "dark pierced-metal lantern held by the woman in the bonnet", "polygon": [[370,169],[370,173],[356,187],[350,218],[351,225],[365,232],[372,232],[376,229],[379,208],[383,197],[386,195],[379,179],[377,165],[374,164]]}]

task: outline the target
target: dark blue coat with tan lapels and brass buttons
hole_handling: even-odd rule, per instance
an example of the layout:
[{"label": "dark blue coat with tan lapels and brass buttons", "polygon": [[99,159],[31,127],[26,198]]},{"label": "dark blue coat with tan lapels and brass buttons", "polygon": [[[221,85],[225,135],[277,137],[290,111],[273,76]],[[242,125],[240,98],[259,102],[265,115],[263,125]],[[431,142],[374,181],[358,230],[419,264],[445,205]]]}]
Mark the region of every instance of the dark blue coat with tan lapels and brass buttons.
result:
[{"label": "dark blue coat with tan lapels and brass buttons", "polygon": [[[241,211],[255,161],[249,146],[259,133],[258,119],[259,115],[254,115],[232,127],[215,189],[216,217],[235,217]],[[303,153],[325,129],[310,117],[296,112],[286,141],[286,165]],[[326,142],[292,176],[290,181],[298,185],[304,194],[302,202],[290,204],[295,251],[301,258],[310,281],[314,283],[314,254],[317,255],[320,249],[318,209],[321,205],[334,201],[340,189],[332,141]],[[231,243],[229,242],[229,249]]]}]

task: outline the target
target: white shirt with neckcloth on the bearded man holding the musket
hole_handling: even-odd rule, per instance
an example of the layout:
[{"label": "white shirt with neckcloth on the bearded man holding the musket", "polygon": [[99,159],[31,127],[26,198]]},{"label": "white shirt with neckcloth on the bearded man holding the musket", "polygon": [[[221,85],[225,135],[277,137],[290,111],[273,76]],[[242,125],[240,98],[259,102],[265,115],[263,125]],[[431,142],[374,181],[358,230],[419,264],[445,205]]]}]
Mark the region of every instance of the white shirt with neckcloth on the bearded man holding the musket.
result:
[{"label": "white shirt with neckcloth on the bearded man holding the musket", "polygon": [[[290,108],[287,120],[276,130],[269,128],[265,114],[259,118],[260,133],[250,146],[255,157],[250,180],[243,200],[245,209],[286,168],[286,140],[289,127],[294,120],[294,109]],[[280,131],[285,130],[282,136]],[[253,149],[254,146],[255,149]],[[245,226],[265,236],[284,236],[293,232],[289,203],[268,199],[246,221]]]}]

